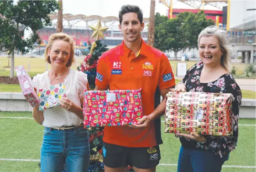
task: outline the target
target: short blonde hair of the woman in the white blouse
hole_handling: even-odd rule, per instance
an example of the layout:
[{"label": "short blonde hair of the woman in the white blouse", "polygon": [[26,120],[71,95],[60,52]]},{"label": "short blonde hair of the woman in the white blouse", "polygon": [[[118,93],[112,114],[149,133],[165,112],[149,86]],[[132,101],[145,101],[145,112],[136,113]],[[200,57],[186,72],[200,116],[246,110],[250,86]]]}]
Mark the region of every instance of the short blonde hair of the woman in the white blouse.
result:
[{"label": "short blonde hair of the woman in the white blouse", "polygon": [[75,58],[74,58],[74,41],[73,41],[73,38],[71,36],[69,36],[65,33],[55,33],[55,34],[52,34],[49,37],[48,44],[47,44],[46,49],[44,51],[45,61],[48,62],[49,64],[51,64],[50,56],[48,56],[48,49],[51,50],[54,40],[64,40],[64,41],[66,41],[70,44],[70,57],[68,59],[68,63],[66,64],[66,66],[67,67],[72,66],[73,62],[75,61]]}]

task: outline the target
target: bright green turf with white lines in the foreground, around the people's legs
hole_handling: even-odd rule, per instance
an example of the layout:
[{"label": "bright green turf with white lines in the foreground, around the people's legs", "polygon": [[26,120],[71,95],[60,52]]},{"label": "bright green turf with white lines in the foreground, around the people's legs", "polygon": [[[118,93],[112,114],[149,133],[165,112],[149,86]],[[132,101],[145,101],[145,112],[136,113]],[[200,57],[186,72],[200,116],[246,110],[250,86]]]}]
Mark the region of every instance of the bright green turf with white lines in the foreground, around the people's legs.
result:
[{"label": "bright green turf with white lines in the foreground, around the people's legs", "polygon": [[[0,117],[32,117],[31,112],[0,112]],[[162,118],[162,121],[164,118]],[[240,119],[239,124],[255,125],[255,119]],[[162,122],[162,131],[164,122]],[[0,118],[0,158],[40,159],[43,126],[33,119]],[[176,172],[180,142],[171,133],[163,133],[161,164],[157,172]],[[229,166],[255,166],[255,126],[239,126],[238,146],[230,153]],[[1,161],[0,172],[39,172],[38,162]],[[255,172],[255,168],[223,167],[222,172]]]}]

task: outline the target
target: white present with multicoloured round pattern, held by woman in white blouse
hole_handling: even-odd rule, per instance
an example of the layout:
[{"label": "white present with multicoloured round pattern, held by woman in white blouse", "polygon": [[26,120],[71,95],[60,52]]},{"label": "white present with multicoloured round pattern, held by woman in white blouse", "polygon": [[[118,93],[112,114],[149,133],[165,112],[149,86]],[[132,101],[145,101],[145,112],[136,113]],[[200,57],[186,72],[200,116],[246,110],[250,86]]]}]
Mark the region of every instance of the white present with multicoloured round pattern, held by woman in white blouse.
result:
[{"label": "white present with multicoloured round pattern, held by woman in white blouse", "polygon": [[39,110],[43,111],[44,109],[59,106],[59,101],[62,99],[62,97],[66,97],[65,93],[65,85],[63,83],[56,84],[48,88],[39,89]]}]

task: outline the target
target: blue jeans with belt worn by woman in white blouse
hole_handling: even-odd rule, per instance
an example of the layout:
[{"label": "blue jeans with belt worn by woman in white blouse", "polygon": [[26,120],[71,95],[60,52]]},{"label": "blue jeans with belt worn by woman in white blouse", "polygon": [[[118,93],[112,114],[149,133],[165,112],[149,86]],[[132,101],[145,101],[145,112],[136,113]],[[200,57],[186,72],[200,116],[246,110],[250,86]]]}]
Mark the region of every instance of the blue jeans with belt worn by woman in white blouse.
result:
[{"label": "blue jeans with belt worn by woman in white blouse", "polygon": [[41,148],[41,172],[87,172],[90,158],[88,131],[44,129]]}]

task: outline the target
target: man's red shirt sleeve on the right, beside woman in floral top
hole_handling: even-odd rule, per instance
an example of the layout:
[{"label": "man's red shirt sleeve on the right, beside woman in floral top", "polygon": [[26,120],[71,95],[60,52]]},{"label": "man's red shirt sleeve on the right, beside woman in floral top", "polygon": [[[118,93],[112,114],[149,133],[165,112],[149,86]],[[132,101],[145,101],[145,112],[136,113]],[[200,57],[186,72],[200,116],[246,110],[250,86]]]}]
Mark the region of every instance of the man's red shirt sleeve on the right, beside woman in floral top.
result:
[{"label": "man's red shirt sleeve on the right, beside woman in floral top", "polygon": [[175,86],[175,79],[172,73],[171,64],[167,56],[163,53],[160,64],[159,89]]}]

